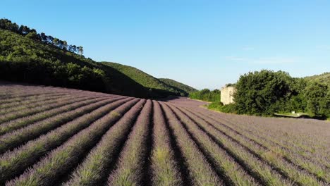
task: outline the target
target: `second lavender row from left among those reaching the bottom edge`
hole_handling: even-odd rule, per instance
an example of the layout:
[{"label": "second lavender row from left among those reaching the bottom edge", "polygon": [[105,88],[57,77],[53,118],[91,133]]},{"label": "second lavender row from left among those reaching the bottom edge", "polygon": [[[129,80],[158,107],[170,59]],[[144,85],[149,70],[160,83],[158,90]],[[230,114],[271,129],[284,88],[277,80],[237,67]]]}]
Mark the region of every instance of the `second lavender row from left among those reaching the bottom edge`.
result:
[{"label": "second lavender row from left among those reaching the bottom edge", "polygon": [[114,168],[114,161],[116,161],[144,104],[145,100],[142,99],[130,111],[121,115],[123,117],[106,132],[97,146],[73,171],[71,180],[68,180],[65,185],[101,185],[102,182],[103,184],[106,183],[109,171]]}]

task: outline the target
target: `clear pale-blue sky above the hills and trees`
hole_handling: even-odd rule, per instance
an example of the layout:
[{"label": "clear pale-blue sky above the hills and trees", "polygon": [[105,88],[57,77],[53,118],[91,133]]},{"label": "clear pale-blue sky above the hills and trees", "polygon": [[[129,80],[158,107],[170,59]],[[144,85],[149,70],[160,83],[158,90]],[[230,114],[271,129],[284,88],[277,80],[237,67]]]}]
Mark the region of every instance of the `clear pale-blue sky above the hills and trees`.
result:
[{"label": "clear pale-blue sky above the hills and trees", "polygon": [[0,17],[198,89],[252,70],[330,71],[326,0],[1,0]]}]

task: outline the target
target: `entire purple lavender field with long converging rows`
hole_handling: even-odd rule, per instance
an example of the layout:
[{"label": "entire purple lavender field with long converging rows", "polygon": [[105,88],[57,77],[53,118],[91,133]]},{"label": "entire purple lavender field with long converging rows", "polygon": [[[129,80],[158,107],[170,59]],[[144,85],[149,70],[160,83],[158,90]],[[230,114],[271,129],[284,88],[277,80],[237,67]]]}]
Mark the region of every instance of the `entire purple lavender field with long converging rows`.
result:
[{"label": "entire purple lavender field with long converging rows", "polygon": [[329,185],[330,123],[0,84],[0,185]]}]

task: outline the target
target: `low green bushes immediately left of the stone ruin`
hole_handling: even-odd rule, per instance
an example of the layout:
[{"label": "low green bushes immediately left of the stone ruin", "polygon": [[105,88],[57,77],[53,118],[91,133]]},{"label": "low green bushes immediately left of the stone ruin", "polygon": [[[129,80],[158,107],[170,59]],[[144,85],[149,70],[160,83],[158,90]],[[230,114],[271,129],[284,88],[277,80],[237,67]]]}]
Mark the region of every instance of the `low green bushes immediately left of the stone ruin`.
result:
[{"label": "low green bushes immediately left of the stone ruin", "polygon": [[192,92],[189,94],[191,99],[199,99],[202,101],[209,102],[220,102],[220,90],[214,89],[210,91],[209,89],[202,89],[200,91]]}]

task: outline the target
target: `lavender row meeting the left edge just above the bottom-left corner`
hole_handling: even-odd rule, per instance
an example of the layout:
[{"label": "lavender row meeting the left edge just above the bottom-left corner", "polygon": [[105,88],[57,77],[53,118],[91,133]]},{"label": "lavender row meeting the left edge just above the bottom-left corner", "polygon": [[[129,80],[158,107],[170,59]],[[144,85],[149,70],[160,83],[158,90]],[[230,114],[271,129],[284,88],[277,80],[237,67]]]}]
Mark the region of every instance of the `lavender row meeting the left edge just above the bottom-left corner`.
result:
[{"label": "lavender row meeting the left edge just above the bottom-left corner", "polygon": [[51,130],[45,135],[40,136],[36,140],[32,140],[23,146],[7,151],[0,156],[0,175],[3,182],[10,180],[13,176],[23,173],[25,168],[37,162],[48,151],[59,147],[66,142],[70,137],[75,135],[80,130],[83,130],[91,125],[94,121],[102,118],[109,112],[116,109],[118,106],[125,104],[133,98],[126,98],[111,102],[105,106],[99,107],[84,116],[80,116],[65,125],[62,125],[55,130]]}]

